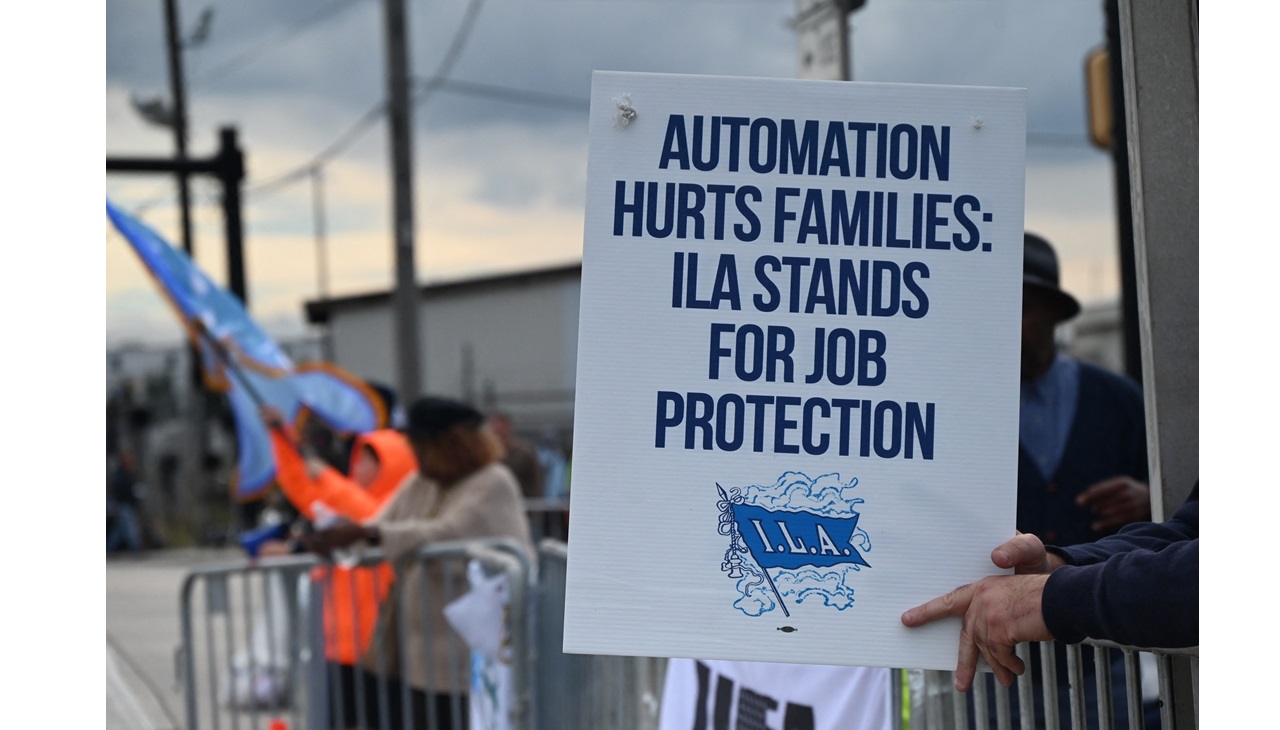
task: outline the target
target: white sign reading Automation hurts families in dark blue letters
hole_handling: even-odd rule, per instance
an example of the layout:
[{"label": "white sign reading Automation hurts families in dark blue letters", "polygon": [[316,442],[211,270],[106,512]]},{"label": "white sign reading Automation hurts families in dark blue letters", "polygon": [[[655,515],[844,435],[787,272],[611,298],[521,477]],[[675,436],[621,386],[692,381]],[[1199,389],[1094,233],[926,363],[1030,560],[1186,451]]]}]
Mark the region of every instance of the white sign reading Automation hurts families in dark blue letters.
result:
[{"label": "white sign reading Automation hurts families in dark blue letters", "polygon": [[595,73],[564,651],[951,669],[1014,534],[1025,92]]}]

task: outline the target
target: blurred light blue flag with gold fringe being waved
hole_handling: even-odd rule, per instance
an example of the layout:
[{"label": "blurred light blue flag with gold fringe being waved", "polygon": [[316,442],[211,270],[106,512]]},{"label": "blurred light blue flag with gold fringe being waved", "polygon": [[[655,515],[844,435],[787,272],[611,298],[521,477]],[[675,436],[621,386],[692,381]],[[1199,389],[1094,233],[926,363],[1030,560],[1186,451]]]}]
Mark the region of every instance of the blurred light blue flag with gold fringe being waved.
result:
[{"label": "blurred light blue flag with gold fringe being waved", "polygon": [[[200,348],[205,385],[227,393],[236,420],[238,497],[255,497],[275,479],[271,442],[255,394],[289,421],[306,407],[343,433],[383,428],[385,409],[371,387],[326,362],[294,365],[239,300],[215,284],[186,254],[111,201],[106,202],[106,214]],[[209,338],[215,338],[220,348]],[[228,366],[223,355],[234,366]]]}]

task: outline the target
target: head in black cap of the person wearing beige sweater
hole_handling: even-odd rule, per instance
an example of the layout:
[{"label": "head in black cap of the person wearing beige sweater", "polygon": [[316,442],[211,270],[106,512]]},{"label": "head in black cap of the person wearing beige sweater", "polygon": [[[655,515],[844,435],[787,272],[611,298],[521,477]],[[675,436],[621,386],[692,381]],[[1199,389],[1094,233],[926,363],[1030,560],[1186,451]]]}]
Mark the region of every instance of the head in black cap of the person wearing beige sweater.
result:
[{"label": "head in black cap of the person wearing beige sweater", "polygon": [[503,456],[484,415],[461,401],[424,396],[410,406],[406,420],[419,471],[440,484],[458,482]]}]

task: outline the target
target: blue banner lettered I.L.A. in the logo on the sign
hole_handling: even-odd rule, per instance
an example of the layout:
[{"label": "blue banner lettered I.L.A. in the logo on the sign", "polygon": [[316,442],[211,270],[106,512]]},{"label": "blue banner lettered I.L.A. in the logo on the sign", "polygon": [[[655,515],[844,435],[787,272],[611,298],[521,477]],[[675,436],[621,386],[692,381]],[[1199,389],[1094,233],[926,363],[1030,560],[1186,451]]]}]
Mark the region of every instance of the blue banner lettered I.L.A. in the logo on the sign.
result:
[{"label": "blue banner lettered I.L.A. in the logo on the sign", "polygon": [[851,517],[831,517],[751,505],[733,505],[732,510],[737,533],[760,567],[795,570],[805,565],[845,564],[870,567],[850,539],[858,529],[858,512]]}]

